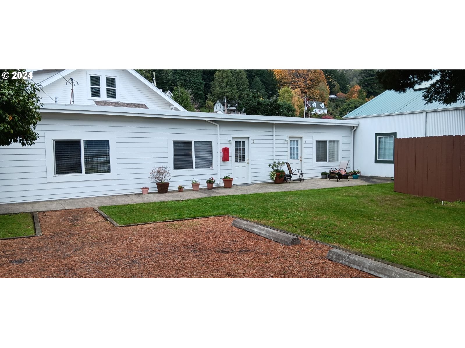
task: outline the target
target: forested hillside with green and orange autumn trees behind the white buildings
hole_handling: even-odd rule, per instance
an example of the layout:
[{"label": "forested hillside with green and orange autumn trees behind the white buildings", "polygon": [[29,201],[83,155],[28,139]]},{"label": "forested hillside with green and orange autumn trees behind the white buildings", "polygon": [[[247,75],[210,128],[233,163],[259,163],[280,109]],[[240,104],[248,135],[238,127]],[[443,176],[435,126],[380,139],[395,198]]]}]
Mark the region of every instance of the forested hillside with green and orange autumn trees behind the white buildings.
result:
[{"label": "forested hillside with green and orange autumn trees behind the white buildings", "polygon": [[328,106],[328,114],[310,116],[341,118],[384,91],[376,70],[137,71],[151,82],[155,75],[157,87],[171,90],[173,99],[191,111],[213,111],[226,96],[249,115],[303,117],[306,97]]}]

